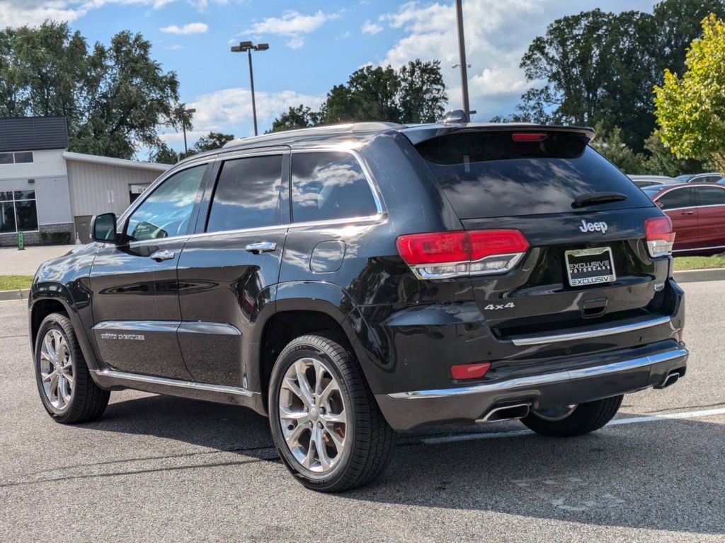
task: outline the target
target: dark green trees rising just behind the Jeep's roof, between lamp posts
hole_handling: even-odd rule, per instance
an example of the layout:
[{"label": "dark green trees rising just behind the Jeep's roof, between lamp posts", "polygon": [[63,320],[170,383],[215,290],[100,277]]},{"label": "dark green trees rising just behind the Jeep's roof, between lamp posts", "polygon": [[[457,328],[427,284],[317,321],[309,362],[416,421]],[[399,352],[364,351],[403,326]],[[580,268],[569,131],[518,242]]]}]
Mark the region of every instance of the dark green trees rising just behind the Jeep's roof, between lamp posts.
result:
[{"label": "dark green trees rising just behind the Jeep's roof, between lamp posts", "polygon": [[300,104],[276,118],[272,131],[337,122],[432,122],[448,100],[439,61],[409,62],[399,70],[365,66],[334,85],[320,111]]}]

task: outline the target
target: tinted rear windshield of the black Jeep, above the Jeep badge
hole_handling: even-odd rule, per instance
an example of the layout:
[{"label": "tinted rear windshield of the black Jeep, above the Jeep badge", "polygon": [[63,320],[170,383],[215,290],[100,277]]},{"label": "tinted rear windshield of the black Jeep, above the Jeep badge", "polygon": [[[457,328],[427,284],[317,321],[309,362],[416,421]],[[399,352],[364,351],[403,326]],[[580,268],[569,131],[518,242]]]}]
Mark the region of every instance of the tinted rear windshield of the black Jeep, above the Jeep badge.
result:
[{"label": "tinted rear windshield of the black Jeep, above the Jeep badge", "polygon": [[416,148],[461,219],[571,212],[578,196],[602,192],[627,198],[584,209],[653,205],[573,132],[549,132],[542,141],[513,141],[512,132],[454,132]]}]

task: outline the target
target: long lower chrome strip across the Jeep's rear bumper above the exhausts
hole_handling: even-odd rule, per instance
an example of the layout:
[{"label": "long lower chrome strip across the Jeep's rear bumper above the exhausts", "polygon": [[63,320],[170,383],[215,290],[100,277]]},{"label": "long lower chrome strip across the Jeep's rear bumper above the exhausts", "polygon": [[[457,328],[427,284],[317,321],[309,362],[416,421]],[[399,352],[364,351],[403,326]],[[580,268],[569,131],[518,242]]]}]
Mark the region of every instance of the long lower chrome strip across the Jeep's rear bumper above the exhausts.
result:
[{"label": "long lower chrome strip across the Jeep's rear bumper above the exhausts", "polygon": [[539,387],[544,384],[552,384],[557,382],[567,382],[573,379],[581,379],[584,377],[596,377],[607,374],[614,374],[618,371],[628,371],[637,369],[642,366],[650,366],[650,364],[666,362],[675,358],[684,358],[688,354],[687,349],[668,350],[664,353],[656,355],[642,356],[641,358],[631,358],[621,362],[613,362],[604,366],[593,366],[591,368],[576,369],[572,371],[558,371],[553,374],[535,375],[529,377],[520,377],[518,379],[508,379],[507,381],[497,383],[477,384],[472,387],[447,388],[439,390],[416,390],[414,392],[394,392],[387,395],[394,399],[415,399],[415,398],[431,398],[431,397],[456,397],[469,394],[481,394],[490,392],[505,392],[506,390]]}]

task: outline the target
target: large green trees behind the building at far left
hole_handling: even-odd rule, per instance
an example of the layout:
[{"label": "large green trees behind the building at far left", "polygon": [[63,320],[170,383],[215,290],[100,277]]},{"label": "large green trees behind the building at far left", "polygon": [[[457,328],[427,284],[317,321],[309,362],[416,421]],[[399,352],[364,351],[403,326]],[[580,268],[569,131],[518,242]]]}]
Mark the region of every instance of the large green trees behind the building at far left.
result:
[{"label": "large green trees behind the building at far left", "polygon": [[[92,51],[67,23],[0,30],[0,116],[63,115],[72,151],[130,159],[176,126],[178,80],[123,31]],[[190,125],[189,125],[190,126]]]}]

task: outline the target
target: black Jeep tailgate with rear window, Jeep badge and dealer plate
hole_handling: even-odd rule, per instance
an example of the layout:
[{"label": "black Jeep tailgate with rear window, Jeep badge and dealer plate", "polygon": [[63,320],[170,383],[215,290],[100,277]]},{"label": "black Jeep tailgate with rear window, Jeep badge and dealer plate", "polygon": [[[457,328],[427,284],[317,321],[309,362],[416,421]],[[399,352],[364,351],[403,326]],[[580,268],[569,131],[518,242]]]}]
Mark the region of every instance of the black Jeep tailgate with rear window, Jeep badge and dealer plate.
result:
[{"label": "black Jeep tailgate with rear window, Jeep badge and dealer plate", "polygon": [[[471,273],[494,337],[647,319],[653,283],[668,274],[666,259],[655,264],[643,239],[645,220],[660,211],[584,132],[461,130],[416,148],[466,230],[514,229],[529,241],[523,260],[508,261],[510,271]],[[506,264],[481,261],[479,270],[498,260]],[[532,356],[546,346],[506,341],[500,349],[486,356]]]}]

